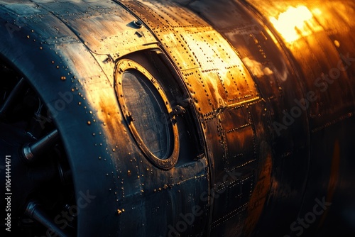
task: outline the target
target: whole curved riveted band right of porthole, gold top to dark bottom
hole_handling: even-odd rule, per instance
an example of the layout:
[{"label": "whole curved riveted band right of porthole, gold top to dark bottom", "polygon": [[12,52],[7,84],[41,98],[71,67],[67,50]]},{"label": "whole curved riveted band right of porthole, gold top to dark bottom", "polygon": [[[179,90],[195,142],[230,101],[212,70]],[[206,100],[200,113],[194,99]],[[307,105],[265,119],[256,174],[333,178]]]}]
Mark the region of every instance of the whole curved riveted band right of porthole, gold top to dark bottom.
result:
[{"label": "whole curved riveted band right of porthole, gold top to dark bottom", "polygon": [[[176,16],[160,13],[161,5],[170,3],[144,2],[143,6],[133,2],[136,3],[124,4],[153,29],[180,70],[200,113],[215,179],[212,184],[228,180],[223,184],[227,191],[213,201],[212,228],[218,231],[228,221],[246,214],[251,197],[254,182],[251,163],[256,162],[257,141],[253,118],[246,108],[249,104],[259,106],[258,89],[236,50],[202,19],[196,20],[202,22],[201,26],[190,26]],[[263,130],[258,132],[261,136]],[[215,136],[218,140],[211,142],[209,139]],[[241,177],[229,177],[226,171],[240,172]],[[241,223],[237,225],[240,227]]]}]

